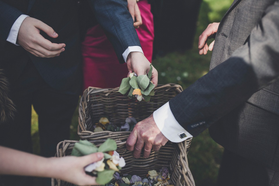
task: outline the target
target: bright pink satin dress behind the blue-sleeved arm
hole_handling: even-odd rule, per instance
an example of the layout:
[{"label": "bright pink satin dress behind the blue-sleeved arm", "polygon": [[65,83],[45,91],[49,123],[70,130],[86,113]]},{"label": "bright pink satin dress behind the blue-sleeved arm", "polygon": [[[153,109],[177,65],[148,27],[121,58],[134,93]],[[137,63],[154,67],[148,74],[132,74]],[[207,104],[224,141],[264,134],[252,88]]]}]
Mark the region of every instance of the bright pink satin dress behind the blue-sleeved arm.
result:
[{"label": "bright pink satin dress behind the blue-sleeved arm", "polygon": [[[147,0],[138,2],[142,25],[137,35],[145,57],[151,62],[154,40],[153,15]],[[128,75],[127,65],[119,64],[112,44],[100,25],[89,28],[82,43],[83,90],[88,86],[115,88]]]}]

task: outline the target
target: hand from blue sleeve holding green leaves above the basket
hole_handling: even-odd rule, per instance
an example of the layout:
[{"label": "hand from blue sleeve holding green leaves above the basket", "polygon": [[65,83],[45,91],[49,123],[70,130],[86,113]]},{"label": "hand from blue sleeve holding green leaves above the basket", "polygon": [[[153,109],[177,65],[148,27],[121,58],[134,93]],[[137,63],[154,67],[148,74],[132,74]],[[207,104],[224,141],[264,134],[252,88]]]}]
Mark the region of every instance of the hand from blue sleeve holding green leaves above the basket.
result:
[{"label": "hand from blue sleeve holding green leaves above the basket", "polygon": [[[143,53],[130,52],[127,57],[127,67],[129,73],[134,71],[138,76],[144,75],[149,72],[150,62],[146,59]],[[158,72],[154,67],[152,68],[151,81],[155,87],[158,85]]]}]

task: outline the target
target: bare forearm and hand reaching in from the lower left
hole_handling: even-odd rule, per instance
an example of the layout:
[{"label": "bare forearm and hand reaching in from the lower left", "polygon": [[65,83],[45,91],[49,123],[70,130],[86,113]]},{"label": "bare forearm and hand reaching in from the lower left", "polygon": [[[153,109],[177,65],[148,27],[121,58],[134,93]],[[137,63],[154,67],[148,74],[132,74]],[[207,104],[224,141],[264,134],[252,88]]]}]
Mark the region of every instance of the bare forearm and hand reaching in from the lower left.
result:
[{"label": "bare forearm and hand reaching in from the lower left", "polygon": [[52,177],[76,185],[98,185],[96,177],[87,175],[84,167],[104,156],[94,153],[82,157],[44,158],[1,146],[0,152],[0,174]]}]

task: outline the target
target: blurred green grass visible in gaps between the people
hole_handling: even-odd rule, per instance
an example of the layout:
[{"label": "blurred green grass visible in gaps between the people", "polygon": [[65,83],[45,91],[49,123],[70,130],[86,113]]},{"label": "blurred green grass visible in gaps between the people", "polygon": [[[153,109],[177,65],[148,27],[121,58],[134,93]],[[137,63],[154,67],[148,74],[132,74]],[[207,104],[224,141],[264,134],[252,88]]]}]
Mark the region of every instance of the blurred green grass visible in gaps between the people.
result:
[{"label": "blurred green grass visible in gaps between the people", "polygon": [[[219,22],[230,7],[233,0],[203,0],[198,16],[194,45],[191,50],[183,53],[170,53],[156,58],[152,64],[158,70],[159,84],[176,83],[186,89],[198,78],[208,73],[212,52],[199,55],[198,36],[208,24]],[[187,23],[185,23],[187,24]],[[208,41],[208,44],[213,39]],[[79,140],[77,135],[78,109],[76,109],[71,124],[71,140]],[[33,150],[39,154],[38,117],[32,108],[31,134]],[[196,186],[213,186],[218,175],[223,147],[215,143],[208,130],[193,138],[188,153],[189,167],[194,176]]]}]

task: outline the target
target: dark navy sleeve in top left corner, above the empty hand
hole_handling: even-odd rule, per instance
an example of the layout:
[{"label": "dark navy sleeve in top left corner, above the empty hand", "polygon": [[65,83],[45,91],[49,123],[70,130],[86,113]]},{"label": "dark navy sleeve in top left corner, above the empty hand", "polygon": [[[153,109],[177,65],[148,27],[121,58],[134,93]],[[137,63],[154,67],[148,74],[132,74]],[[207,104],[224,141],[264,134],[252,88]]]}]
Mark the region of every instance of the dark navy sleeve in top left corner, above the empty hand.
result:
[{"label": "dark navy sleeve in top left corner, above the empty hand", "polygon": [[0,1],[0,35],[1,39],[6,41],[12,25],[23,13],[18,9]]}]

